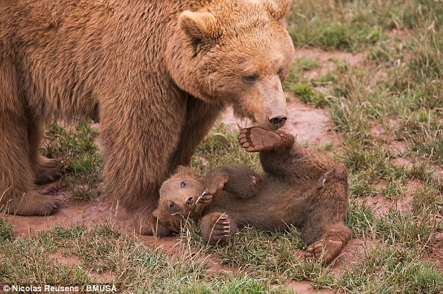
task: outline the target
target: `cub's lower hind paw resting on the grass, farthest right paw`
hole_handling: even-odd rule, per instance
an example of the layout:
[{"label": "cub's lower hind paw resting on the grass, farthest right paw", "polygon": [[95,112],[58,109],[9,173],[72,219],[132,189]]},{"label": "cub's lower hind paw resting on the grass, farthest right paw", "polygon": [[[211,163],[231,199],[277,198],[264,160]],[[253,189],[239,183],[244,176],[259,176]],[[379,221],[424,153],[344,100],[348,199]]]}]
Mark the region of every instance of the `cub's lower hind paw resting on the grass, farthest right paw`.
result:
[{"label": "cub's lower hind paw resting on the grass, farthest right paw", "polygon": [[307,247],[305,258],[307,260],[315,258],[328,264],[338,256],[343,247],[343,242],[340,240],[321,239]]}]

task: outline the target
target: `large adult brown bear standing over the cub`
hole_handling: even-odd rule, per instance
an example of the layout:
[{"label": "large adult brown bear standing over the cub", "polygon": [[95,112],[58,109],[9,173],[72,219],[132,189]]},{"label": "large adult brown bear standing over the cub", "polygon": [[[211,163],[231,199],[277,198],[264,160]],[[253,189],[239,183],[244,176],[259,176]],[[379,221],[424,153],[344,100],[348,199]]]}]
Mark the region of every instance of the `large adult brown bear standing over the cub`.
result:
[{"label": "large adult brown bear standing over the cub", "polygon": [[60,175],[38,153],[42,126],[98,115],[106,185],[152,233],[159,186],[226,105],[265,128],[284,124],[290,4],[2,1],[0,210],[55,212],[60,200],[32,191]]}]

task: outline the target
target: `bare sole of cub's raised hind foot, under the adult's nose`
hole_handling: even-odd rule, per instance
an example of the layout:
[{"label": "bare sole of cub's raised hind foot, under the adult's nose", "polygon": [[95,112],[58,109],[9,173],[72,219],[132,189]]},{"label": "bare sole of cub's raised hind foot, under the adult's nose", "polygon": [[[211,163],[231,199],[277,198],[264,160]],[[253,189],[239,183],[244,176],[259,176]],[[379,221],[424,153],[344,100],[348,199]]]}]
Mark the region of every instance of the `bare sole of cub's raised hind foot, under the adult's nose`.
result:
[{"label": "bare sole of cub's raised hind foot, under the adult's nose", "polygon": [[281,140],[280,135],[263,128],[243,128],[238,135],[240,146],[248,152],[260,152],[272,149]]}]

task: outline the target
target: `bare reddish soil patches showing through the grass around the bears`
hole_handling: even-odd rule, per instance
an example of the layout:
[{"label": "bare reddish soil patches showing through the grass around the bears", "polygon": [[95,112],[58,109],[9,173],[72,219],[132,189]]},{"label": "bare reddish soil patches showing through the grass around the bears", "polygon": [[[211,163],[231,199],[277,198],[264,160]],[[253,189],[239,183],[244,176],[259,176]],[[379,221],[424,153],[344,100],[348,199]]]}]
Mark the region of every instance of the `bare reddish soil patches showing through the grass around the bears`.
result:
[{"label": "bare reddish soil patches showing through the grass around the bears", "polygon": [[[326,73],[330,71],[335,64],[331,61],[331,57],[336,57],[341,60],[349,61],[349,64],[354,65],[361,61],[361,54],[351,54],[347,52],[340,51],[330,51],[326,52],[319,49],[299,49],[296,52],[297,57],[305,56],[310,59],[315,59],[318,57],[319,63],[322,65],[321,68],[316,68],[312,71],[306,71],[305,74],[308,78],[316,78],[321,73]],[[325,110],[321,108],[312,108],[312,106],[307,105],[300,101],[296,96],[291,96],[287,102],[288,110],[288,121],[284,126],[284,130],[296,135],[298,142],[304,142],[310,147],[315,147],[317,145],[331,144],[333,149],[340,148],[340,140],[333,131],[331,131],[331,122]],[[221,122],[227,124],[232,130],[238,131],[239,128],[248,126],[247,122],[242,122],[235,119],[232,114],[232,110],[227,110],[221,118]],[[404,145],[403,142],[393,141],[393,147],[402,152]],[[401,158],[396,159],[397,161],[402,161]],[[408,185],[407,196],[405,199],[398,200],[395,205],[405,205],[410,202],[411,194],[414,190],[414,185],[418,185],[412,182]],[[103,185],[99,186],[101,191]],[[36,189],[38,192],[43,194],[57,195],[64,200],[64,207],[62,207],[57,213],[51,216],[8,216],[11,223],[14,225],[14,230],[17,235],[28,235],[31,232],[38,232],[41,230],[48,230],[52,228],[55,224],[61,224],[62,226],[68,226],[69,224],[75,223],[106,223],[108,221],[115,223],[119,230],[127,235],[133,235],[134,237],[140,238],[146,244],[153,247],[160,248],[167,253],[177,254],[180,253],[180,241],[177,237],[164,237],[156,238],[153,236],[140,236],[133,229],[133,219],[118,207],[117,203],[113,202],[106,197],[103,192],[101,195],[97,196],[91,202],[81,202],[77,203],[70,200],[69,192],[66,184],[63,182],[55,182],[51,184],[46,184],[43,186],[38,186]],[[394,205],[392,200],[384,198],[383,196],[374,196],[368,199],[362,199],[361,201],[367,201],[371,205],[376,205],[377,209],[384,213],[387,211],[389,205]],[[364,247],[368,246],[368,241],[361,239],[353,239],[347,247],[344,248],[339,258],[337,258],[335,264],[333,265],[333,271],[338,276],[340,272],[346,267],[351,267],[352,263],[358,260],[364,251]],[[440,242],[441,243],[441,242]],[[439,244],[440,244],[439,243]],[[435,247],[433,251],[433,258],[435,256],[442,257],[442,246]],[[72,263],[78,264],[79,260],[72,257],[62,256],[61,253],[54,253],[51,258],[57,258],[61,263]],[[235,272],[236,269],[227,267],[226,265],[220,265],[218,260],[208,258],[212,267],[210,272],[216,273],[220,271]],[[288,284],[294,291],[298,293],[333,293],[328,289],[320,289],[319,291],[312,288],[307,281],[291,281]]]}]

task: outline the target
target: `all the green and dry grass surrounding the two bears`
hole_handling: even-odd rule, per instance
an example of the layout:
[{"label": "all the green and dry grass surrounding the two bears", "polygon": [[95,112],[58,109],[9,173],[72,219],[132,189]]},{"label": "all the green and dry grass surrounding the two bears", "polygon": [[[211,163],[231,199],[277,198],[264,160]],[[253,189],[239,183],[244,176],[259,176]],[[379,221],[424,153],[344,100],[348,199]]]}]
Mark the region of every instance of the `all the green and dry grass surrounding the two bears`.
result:
[{"label": "all the green and dry grass surrounding the two bears", "polygon": [[[126,293],[292,293],[288,281],[307,280],[314,288],[345,293],[441,293],[443,260],[434,250],[441,250],[435,239],[442,234],[443,210],[443,4],[300,0],[293,1],[288,22],[296,47],[363,54],[354,66],[332,58],[335,68],[314,80],[305,73],[320,70],[321,61],[300,57],[283,84],[324,108],[341,140],[340,148],[317,149],[333,151],[347,165],[346,221],[365,245],[339,275],[299,257],[305,244],[296,228],[247,228],[221,247],[206,244],[198,226],[189,223],[177,237],[176,252],[167,253],[120,234],[114,223],[55,225],[23,237],[4,216],[0,281],[80,289],[105,283]],[[74,128],[55,124],[46,134],[43,153],[61,160],[61,182],[78,200],[99,193],[97,135],[87,122]],[[201,173],[220,164],[261,170],[257,154],[242,150],[236,138],[218,126],[198,147],[193,166]],[[369,204],[377,199],[390,207]],[[228,271],[211,270],[219,263]]]}]

